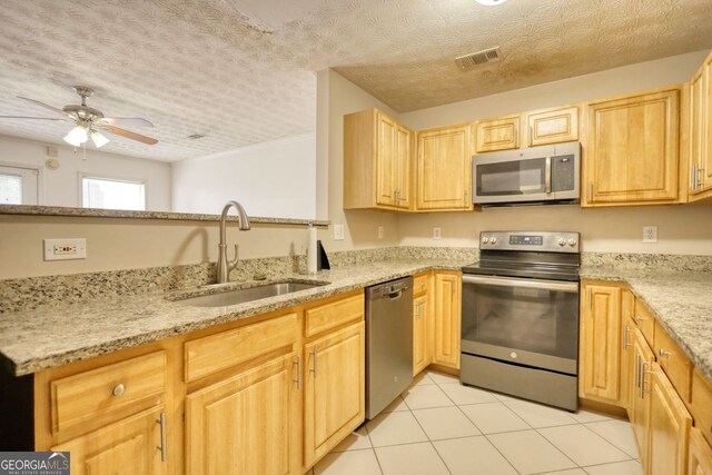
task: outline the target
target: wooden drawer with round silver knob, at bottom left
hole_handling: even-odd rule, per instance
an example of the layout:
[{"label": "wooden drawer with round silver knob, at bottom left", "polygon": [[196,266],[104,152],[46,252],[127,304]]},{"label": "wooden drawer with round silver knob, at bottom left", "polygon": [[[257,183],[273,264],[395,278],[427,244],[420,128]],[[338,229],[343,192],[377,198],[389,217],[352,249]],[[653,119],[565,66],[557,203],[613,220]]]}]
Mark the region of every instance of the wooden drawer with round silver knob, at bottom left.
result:
[{"label": "wooden drawer with round silver knob, at bottom left", "polygon": [[50,383],[52,432],[101,417],[112,422],[129,406],[160,402],[166,388],[166,352],[156,352]]}]

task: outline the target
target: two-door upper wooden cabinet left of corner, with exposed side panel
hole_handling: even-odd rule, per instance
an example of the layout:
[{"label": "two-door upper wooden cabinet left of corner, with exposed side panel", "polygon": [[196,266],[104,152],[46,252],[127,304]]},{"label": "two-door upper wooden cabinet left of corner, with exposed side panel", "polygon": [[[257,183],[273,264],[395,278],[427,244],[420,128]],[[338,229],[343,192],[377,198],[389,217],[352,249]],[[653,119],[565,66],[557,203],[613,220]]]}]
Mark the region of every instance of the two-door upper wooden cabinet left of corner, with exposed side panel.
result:
[{"label": "two-door upper wooden cabinet left of corner, with exposed side panel", "polygon": [[377,109],[344,116],[344,208],[408,210],[412,132]]}]

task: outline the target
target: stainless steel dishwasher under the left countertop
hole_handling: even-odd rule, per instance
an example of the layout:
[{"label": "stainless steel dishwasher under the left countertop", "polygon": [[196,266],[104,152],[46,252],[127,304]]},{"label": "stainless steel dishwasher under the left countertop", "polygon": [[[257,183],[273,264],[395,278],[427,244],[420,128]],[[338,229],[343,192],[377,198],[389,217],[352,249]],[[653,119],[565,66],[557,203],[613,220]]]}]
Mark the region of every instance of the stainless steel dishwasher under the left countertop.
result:
[{"label": "stainless steel dishwasher under the left countertop", "polygon": [[366,418],[413,382],[413,277],[366,289]]}]

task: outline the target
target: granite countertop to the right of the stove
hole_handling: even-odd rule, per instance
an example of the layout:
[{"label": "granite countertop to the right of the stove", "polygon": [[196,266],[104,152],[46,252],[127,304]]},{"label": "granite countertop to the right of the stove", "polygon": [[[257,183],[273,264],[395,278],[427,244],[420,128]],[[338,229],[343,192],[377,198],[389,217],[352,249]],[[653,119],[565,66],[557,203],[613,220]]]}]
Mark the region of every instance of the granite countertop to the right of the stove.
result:
[{"label": "granite countertop to the right of the stove", "polygon": [[712,380],[712,274],[581,268],[582,279],[625,281],[694,366]]}]

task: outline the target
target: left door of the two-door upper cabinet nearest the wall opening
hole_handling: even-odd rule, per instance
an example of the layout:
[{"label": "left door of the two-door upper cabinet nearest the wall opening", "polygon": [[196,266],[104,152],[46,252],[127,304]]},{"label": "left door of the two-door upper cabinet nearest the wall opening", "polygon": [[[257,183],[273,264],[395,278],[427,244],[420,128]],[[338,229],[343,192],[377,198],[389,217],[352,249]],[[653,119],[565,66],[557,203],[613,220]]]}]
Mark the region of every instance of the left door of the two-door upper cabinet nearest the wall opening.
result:
[{"label": "left door of the two-door upper cabinet nearest the wall opening", "polygon": [[376,113],[376,205],[396,206],[398,125]]}]

